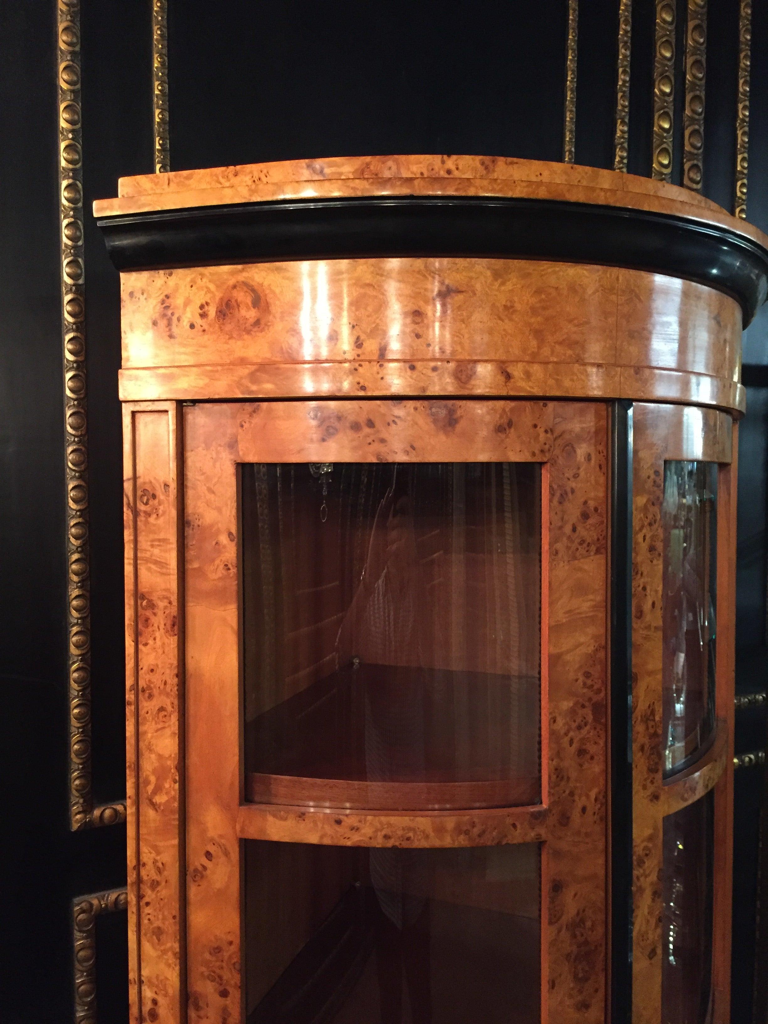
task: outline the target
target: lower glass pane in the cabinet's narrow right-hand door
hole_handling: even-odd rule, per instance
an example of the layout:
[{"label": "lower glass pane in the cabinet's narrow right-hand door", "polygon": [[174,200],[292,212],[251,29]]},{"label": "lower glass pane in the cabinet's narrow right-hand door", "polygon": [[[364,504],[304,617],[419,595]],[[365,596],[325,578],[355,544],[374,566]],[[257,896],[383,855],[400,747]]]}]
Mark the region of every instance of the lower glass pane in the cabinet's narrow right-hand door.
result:
[{"label": "lower glass pane in the cabinet's narrow right-hand door", "polygon": [[706,1024],[712,999],[714,792],[664,819],[662,1022]]}]

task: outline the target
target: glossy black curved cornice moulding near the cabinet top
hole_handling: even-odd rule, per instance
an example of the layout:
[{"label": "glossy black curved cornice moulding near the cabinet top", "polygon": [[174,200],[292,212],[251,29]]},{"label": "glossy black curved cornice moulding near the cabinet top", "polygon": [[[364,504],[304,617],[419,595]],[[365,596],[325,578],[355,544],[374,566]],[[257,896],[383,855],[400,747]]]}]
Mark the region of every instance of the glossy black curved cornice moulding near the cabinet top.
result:
[{"label": "glossy black curved cornice moulding near the cabinet top", "polygon": [[626,207],[542,199],[373,197],[102,217],[119,270],[365,256],[597,263],[725,292],[744,326],[768,294],[768,251],[736,231]]}]

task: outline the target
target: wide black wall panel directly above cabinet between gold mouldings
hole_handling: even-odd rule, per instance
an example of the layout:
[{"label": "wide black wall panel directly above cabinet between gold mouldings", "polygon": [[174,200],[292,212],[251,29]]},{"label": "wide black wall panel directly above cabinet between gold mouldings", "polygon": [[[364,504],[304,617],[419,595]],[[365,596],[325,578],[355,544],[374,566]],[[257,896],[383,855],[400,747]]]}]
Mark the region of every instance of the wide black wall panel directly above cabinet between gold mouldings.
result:
[{"label": "wide black wall panel directly above cabinet between gold mouldings", "polygon": [[172,167],[395,153],[560,160],[566,29],[566,0],[170,0]]}]

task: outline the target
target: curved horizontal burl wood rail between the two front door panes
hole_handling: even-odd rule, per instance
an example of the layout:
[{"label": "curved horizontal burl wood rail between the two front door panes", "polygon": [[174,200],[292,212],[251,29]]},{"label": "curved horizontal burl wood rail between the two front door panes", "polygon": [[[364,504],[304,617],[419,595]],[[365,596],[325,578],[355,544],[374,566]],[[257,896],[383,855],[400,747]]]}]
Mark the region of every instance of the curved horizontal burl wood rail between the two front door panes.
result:
[{"label": "curved horizontal burl wood rail between the two front door panes", "polygon": [[283,843],[437,849],[540,843],[547,838],[547,820],[543,806],[395,814],[244,804],[238,811],[238,835]]}]

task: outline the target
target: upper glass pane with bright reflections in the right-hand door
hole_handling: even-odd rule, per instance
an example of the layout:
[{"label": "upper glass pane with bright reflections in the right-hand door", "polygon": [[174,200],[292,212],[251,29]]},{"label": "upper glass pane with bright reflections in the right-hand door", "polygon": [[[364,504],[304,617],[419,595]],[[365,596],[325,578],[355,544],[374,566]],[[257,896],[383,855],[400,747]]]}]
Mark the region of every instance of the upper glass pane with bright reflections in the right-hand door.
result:
[{"label": "upper glass pane with bright reflections in the right-hand door", "polygon": [[664,473],[663,751],[665,774],[689,764],[715,724],[717,465]]}]

